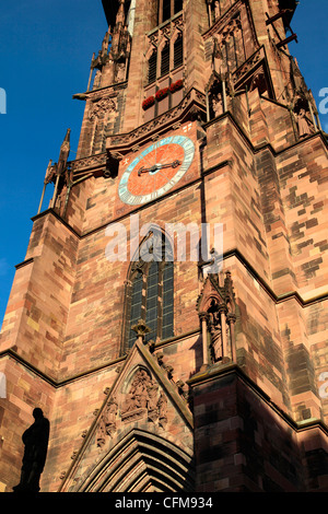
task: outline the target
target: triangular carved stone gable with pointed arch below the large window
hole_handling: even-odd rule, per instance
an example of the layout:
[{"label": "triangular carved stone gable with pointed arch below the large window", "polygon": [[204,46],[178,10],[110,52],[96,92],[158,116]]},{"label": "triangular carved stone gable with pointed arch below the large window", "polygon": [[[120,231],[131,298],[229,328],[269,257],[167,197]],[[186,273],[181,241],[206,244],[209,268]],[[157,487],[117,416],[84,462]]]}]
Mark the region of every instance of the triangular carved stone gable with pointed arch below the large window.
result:
[{"label": "triangular carved stone gable with pointed arch below the large window", "polygon": [[137,340],[62,491],[192,490],[192,416],[180,384],[160,363],[160,355]]}]

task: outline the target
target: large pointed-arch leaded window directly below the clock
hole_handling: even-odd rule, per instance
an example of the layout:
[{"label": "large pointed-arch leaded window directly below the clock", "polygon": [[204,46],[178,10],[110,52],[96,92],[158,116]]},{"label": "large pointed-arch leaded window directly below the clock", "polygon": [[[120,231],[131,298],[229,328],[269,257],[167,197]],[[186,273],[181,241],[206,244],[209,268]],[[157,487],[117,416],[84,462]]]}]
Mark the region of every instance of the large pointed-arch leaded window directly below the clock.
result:
[{"label": "large pointed-arch leaded window directly below the clock", "polygon": [[126,283],[122,352],[137,339],[133,325],[143,319],[151,331],[145,340],[167,339],[173,332],[174,267],[171,243],[159,230],[151,230],[139,247]]}]

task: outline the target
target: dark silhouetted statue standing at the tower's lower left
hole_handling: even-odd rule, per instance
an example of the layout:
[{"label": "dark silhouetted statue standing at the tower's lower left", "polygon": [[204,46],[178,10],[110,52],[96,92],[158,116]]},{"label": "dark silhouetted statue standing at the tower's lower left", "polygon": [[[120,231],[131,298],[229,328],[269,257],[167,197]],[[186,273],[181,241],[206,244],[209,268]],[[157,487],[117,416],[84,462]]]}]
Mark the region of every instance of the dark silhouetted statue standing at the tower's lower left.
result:
[{"label": "dark silhouetted statue standing at the tower's lower left", "polygon": [[48,451],[50,423],[42,409],[34,409],[35,422],[22,435],[25,445],[21,481],[13,487],[14,492],[38,492],[39,479],[44,470]]}]

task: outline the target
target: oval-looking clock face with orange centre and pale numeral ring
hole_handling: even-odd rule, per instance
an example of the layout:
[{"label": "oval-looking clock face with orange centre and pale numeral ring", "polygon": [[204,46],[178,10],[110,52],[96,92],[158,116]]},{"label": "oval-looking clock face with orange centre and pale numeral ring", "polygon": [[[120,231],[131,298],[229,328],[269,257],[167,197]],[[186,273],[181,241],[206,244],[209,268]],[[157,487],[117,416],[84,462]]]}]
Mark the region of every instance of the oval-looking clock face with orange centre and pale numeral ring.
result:
[{"label": "oval-looking clock face with orange centre and pale numeral ring", "polygon": [[194,155],[194,142],[184,136],[150,144],[124,172],[118,186],[120,200],[139,206],[165,195],[185,175]]}]

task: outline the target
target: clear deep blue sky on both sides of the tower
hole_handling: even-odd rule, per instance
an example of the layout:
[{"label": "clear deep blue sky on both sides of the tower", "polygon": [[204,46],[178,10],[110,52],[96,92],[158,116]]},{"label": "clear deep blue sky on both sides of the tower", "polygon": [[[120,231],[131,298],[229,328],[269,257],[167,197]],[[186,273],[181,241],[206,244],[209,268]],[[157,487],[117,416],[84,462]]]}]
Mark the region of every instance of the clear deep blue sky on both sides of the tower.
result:
[{"label": "clear deep blue sky on both sides of the tower", "polygon": [[[86,90],[92,54],[107,31],[101,0],[2,3],[0,87],[7,114],[0,114],[0,326],[14,266],[25,258],[46,167],[50,159],[57,162],[67,128],[74,159],[84,103],[72,95]],[[328,87],[327,13],[327,0],[302,0],[292,22],[298,44],[290,50],[318,104],[319,91]],[[328,114],[320,118],[328,131]]]}]

